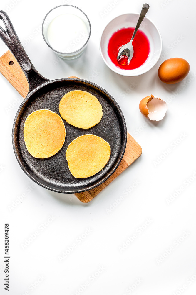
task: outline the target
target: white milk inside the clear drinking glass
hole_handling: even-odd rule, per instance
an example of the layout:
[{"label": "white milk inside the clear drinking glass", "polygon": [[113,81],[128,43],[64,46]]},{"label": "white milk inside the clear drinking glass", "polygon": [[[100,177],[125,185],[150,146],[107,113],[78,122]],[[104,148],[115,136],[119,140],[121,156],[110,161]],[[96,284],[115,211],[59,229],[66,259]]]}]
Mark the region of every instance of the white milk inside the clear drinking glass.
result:
[{"label": "white milk inside the clear drinking glass", "polygon": [[61,14],[48,25],[47,39],[53,49],[65,53],[73,52],[86,43],[88,28],[80,17]]}]

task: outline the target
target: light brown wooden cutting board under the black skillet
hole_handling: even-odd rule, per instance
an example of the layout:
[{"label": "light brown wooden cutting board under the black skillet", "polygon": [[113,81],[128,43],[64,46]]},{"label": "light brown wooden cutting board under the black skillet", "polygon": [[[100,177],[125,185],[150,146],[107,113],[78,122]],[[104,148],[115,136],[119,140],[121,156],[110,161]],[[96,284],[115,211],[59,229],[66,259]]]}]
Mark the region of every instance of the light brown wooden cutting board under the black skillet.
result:
[{"label": "light brown wooden cutting board under the black skillet", "polygon": [[[11,83],[11,85],[14,86],[21,96],[25,98],[29,91],[29,84],[24,72],[16,61],[14,55],[12,55],[9,50],[0,57],[0,72]],[[120,175],[120,173],[130,166],[141,155],[141,153],[142,149],[140,145],[127,132],[127,145],[125,153],[116,171],[110,176],[110,178],[96,188],[83,193],[75,194],[77,198],[83,203],[90,202],[96,195],[105,189],[108,184]]]}]

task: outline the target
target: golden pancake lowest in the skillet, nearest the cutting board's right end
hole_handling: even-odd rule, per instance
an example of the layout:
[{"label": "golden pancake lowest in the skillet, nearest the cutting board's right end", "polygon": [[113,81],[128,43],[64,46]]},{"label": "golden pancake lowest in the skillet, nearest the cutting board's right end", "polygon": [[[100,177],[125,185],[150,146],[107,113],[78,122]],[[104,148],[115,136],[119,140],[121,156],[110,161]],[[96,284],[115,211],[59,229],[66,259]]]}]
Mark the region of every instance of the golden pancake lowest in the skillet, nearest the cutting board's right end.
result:
[{"label": "golden pancake lowest in the skillet, nearest the cutting board's right end", "polygon": [[99,136],[86,134],[77,137],[66,150],[71,174],[76,178],[93,176],[107,164],[110,151],[109,143]]}]

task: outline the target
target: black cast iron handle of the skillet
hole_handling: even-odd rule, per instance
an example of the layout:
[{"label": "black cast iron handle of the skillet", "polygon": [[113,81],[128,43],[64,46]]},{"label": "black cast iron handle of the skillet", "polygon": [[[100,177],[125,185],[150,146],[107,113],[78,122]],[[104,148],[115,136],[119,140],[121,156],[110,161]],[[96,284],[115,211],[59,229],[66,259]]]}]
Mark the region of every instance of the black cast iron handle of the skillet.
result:
[{"label": "black cast iron handle of the skillet", "polygon": [[4,41],[5,45],[13,53],[20,67],[24,71],[24,74],[29,83],[29,92],[31,92],[38,85],[47,82],[48,79],[41,76],[32,65],[18,36],[16,35],[16,32],[8,15],[3,10],[0,10],[0,19],[3,21],[6,27],[6,30],[4,30],[0,26],[0,37]]}]

